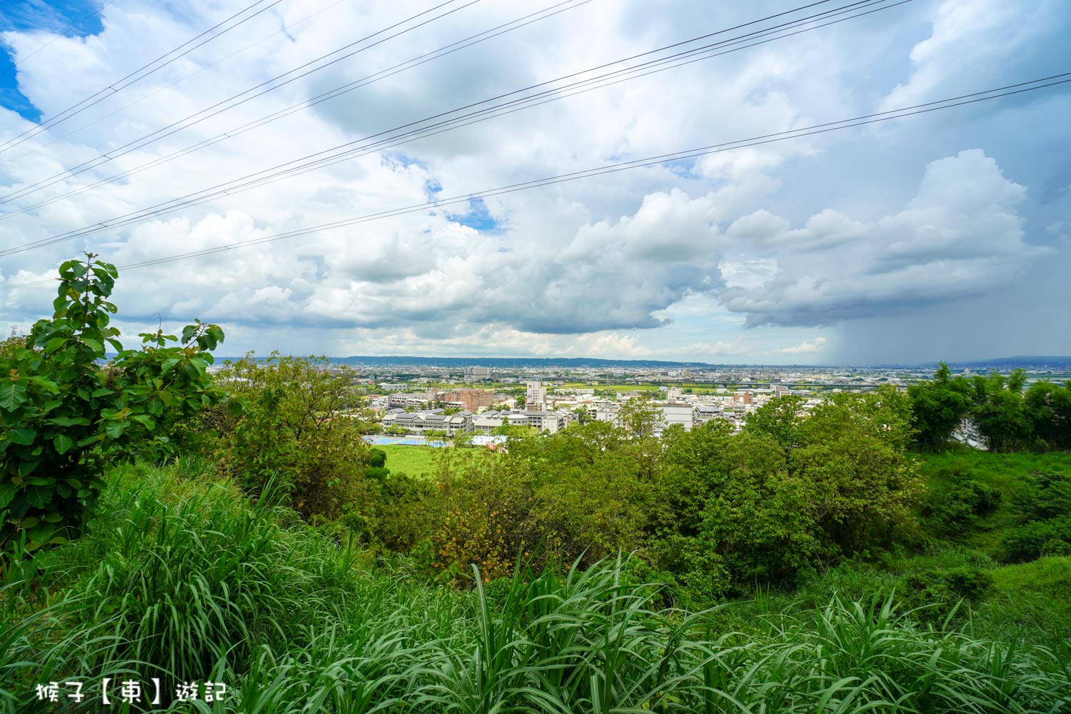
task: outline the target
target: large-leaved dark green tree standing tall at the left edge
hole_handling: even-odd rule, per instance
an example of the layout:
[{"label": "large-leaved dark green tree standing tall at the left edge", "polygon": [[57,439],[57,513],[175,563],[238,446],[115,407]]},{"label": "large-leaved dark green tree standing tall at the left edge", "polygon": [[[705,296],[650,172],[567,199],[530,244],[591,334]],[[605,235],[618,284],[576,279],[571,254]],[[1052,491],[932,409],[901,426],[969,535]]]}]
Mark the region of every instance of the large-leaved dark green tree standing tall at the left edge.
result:
[{"label": "large-leaved dark green tree standing tall at the left edge", "polygon": [[[168,451],[170,427],[225,394],[207,375],[214,324],[145,333],[125,350],[110,326],[116,268],[92,254],[60,265],[50,320],[9,340],[0,368],[0,545],[27,549],[77,534],[106,466]],[[174,345],[172,345],[174,344]],[[118,354],[106,366],[105,349]]]}]

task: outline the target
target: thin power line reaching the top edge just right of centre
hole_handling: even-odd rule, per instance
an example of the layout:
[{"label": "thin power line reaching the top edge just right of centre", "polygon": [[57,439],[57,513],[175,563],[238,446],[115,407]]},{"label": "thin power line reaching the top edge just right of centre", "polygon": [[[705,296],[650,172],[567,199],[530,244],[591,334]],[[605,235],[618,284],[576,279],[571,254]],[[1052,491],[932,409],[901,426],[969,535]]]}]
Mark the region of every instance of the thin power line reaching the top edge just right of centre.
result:
[{"label": "thin power line reaching the top edge just right of centre", "polygon": [[[472,34],[472,35],[469,35],[467,37],[464,37],[463,40],[458,40],[456,42],[450,43],[449,45],[444,45],[443,47],[440,47],[440,48],[438,48],[436,50],[433,50],[431,52],[424,52],[423,55],[419,55],[419,56],[417,56],[417,57],[414,57],[414,58],[412,58],[410,60],[407,60],[405,62],[399,62],[398,64],[395,64],[393,66],[387,67],[386,70],[381,70],[380,72],[377,72],[375,74],[368,75],[366,77],[362,77],[361,79],[356,79],[356,80],[353,80],[353,81],[351,81],[351,82],[349,82],[347,85],[343,85],[341,87],[336,87],[336,88],[334,88],[332,90],[329,90],[327,92],[318,94],[318,95],[316,95],[316,96],[314,96],[314,97],[312,97],[310,100],[305,100],[304,102],[299,102],[297,104],[290,105],[289,107],[286,107],[285,109],[280,109],[277,111],[274,111],[274,112],[270,113],[270,115],[267,115],[266,117],[261,117],[259,119],[255,119],[255,120],[253,120],[251,122],[242,124],[241,126],[236,126],[235,128],[230,128],[230,130],[228,130],[228,131],[226,131],[226,132],[224,132],[222,134],[217,134],[216,136],[211,137],[211,138],[203,139],[203,140],[198,141],[196,143],[190,145],[187,147],[179,149],[178,151],[174,151],[174,152],[171,152],[169,154],[166,154],[164,156],[155,158],[155,159],[153,159],[151,162],[148,162],[146,164],[141,164],[139,166],[136,166],[134,168],[127,169],[127,170],[122,171],[120,173],[116,173],[116,174],[112,174],[112,176],[107,177],[105,179],[101,179],[101,180],[99,180],[99,181],[96,181],[94,183],[91,183],[91,184],[88,184],[88,185],[85,185],[85,186],[81,186],[81,187],[78,187],[78,188],[74,188],[74,189],[69,191],[69,192],[66,192],[64,194],[60,194],[58,196],[54,196],[52,198],[49,198],[49,199],[46,199],[46,200],[43,200],[43,201],[39,201],[36,203],[31,203],[29,206],[26,206],[26,207],[22,207],[21,209],[16,210],[16,211],[10,211],[7,213],[0,214],[0,221],[3,221],[3,219],[9,218],[11,216],[19,215],[21,213],[26,213],[27,211],[32,211],[33,209],[41,208],[43,206],[48,206],[50,203],[55,203],[56,201],[63,200],[63,199],[69,198],[71,196],[76,196],[78,194],[82,194],[86,191],[90,191],[90,189],[96,188],[99,186],[103,186],[103,185],[106,185],[106,184],[109,184],[109,183],[114,183],[116,181],[120,181],[122,179],[125,179],[127,177],[134,176],[136,173],[140,173],[141,171],[148,170],[150,168],[154,168],[156,166],[161,166],[163,164],[169,163],[169,162],[171,162],[171,161],[174,161],[176,158],[180,158],[182,156],[187,156],[187,155],[190,155],[190,154],[192,154],[194,152],[200,151],[201,149],[207,149],[208,147],[214,146],[214,145],[216,145],[216,143],[218,143],[221,141],[225,141],[226,139],[236,137],[236,136],[238,136],[240,134],[244,134],[244,133],[253,131],[255,128],[259,128],[260,126],[265,126],[267,124],[270,124],[270,123],[272,123],[274,121],[277,121],[277,120],[283,119],[285,117],[288,117],[288,116],[290,116],[292,113],[301,111],[302,109],[306,109],[306,108],[308,108],[311,106],[315,106],[317,104],[320,104],[321,102],[327,102],[329,100],[336,98],[338,96],[342,96],[343,94],[347,94],[347,93],[349,93],[351,91],[360,89],[361,87],[366,87],[368,85],[377,82],[377,81],[379,81],[381,79],[386,79],[388,77],[392,77],[392,76],[394,76],[396,74],[399,74],[402,72],[405,72],[407,70],[412,70],[412,69],[414,69],[417,66],[420,66],[420,65],[425,64],[427,62],[431,62],[433,60],[437,60],[437,59],[440,59],[440,58],[446,57],[448,55],[452,55],[453,52],[456,52],[458,50],[465,49],[466,47],[471,47],[472,45],[479,44],[481,42],[485,42],[485,41],[491,40],[493,37],[497,37],[497,36],[499,36],[501,34],[507,33],[507,32],[512,32],[513,30],[521,29],[523,27],[531,25],[532,22],[537,22],[537,21],[540,21],[540,20],[547,19],[549,17],[553,17],[553,16],[558,15],[560,13],[567,12],[569,10],[574,10],[574,9],[579,7],[582,5],[585,5],[585,4],[587,4],[587,3],[591,2],[591,1],[592,0],[564,0],[563,2],[558,2],[557,4],[550,5],[548,7],[544,7],[543,10],[540,10],[538,12],[530,13],[528,15],[525,15],[525,16],[519,17],[517,19],[511,20],[509,22],[503,22],[503,24],[498,25],[496,27],[493,27],[493,28],[491,28],[488,30],[484,30],[483,32],[478,32],[476,34]],[[162,91],[162,90],[159,90],[159,91]],[[235,106],[237,106],[237,105],[235,105]],[[225,110],[226,109],[223,109],[221,111],[225,111]],[[216,113],[218,113],[218,112],[216,112]],[[208,117],[205,117],[203,119],[208,119]],[[200,121],[200,120],[198,120],[198,121]],[[192,126],[192,125],[193,124],[190,124],[187,126]],[[185,127],[183,127],[183,128],[185,128]],[[17,192],[13,192],[11,194],[7,194],[6,196],[0,197],[0,206],[2,206],[4,203],[7,203],[10,201],[16,200],[18,198],[25,198],[26,196],[28,196],[30,194],[34,194],[37,191],[47,188],[48,186],[55,185],[57,183],[60,183],[61,181],[64,181],[64,180],[66,180],[69,178],[73,178],[73,177],[78,176],[80,173],[84,173],[86,171],[92,170],[93,168],[96,168],[97,166],[100,166],[100,164],[94,165],[94,166],[89,166],[89,167],[86,167],[86,168],[81,168],[81,169],[78,169],[78,170],[70,169],[69,172],[67,172],[67,173],[70,173],[70,176],[67,173],[57,174],[56,177],[52,177],[51,179],[44,179],[43,181],[39,181],[36,184],[32,184],[30,186],[25,186],[24,188],[20,188]]]}]

